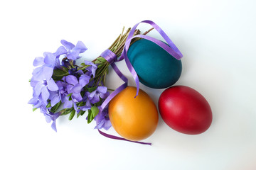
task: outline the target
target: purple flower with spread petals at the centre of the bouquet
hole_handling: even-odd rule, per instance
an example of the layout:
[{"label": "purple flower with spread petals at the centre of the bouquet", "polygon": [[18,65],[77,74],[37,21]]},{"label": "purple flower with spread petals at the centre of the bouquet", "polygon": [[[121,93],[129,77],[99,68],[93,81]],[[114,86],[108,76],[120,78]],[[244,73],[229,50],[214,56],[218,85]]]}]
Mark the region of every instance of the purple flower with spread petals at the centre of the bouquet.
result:
[{"label": "purple flower with spread petals at the centre of the bouquet", "polygon": [[73,101],[82,101],[82,96],[80,92],[82,88],[89,83],[90,77],[85,74],[82,74],[78,81],[77,77],[73,75],[68,75],[67,77],[65,77],[65,81],[68,83],[67,91],[68,94],[72,94],[71,97]]}]

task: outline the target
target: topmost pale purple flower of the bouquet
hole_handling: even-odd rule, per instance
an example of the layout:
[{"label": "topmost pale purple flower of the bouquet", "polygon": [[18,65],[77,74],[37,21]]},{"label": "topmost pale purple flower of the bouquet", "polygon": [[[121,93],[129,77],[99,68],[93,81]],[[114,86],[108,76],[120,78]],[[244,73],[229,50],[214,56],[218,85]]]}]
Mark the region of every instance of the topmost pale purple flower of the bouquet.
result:
[{"label": "topmost pale purple flower of the bouquet", "polygon": [[79,59],[80,56],[78,56],[78,55],[87,50],[87,47],[85,47],[85,44],[82,43],[82,41],[78,41],[78,43],[76,45],[73,45],[73,43],[68,42],[66,40],[61,40],[60,42],[62,45],[64,45],[64,47],[67,50],[67,58],[69,60]]}]

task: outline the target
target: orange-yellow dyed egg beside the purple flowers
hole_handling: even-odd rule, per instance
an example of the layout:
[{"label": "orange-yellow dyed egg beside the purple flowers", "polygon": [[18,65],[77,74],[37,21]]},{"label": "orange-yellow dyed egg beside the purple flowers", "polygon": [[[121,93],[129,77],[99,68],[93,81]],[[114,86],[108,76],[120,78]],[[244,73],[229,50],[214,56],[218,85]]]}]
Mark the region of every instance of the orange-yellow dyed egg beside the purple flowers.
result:
[{"label": "orange-yellow dyed egg beside the purple flowers", "polygon": [[110,122],[114,130],[127,140],[144,140],[154,133],[159,115],[154,101],[141,89],[127,86],[109,104]]}]

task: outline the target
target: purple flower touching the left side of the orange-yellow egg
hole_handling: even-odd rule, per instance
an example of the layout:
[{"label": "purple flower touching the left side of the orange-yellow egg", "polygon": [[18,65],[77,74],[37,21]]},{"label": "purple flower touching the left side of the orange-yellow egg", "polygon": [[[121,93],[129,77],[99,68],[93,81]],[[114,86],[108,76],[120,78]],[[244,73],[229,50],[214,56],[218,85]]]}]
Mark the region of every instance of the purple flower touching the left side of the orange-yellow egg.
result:
[{"label": "purple flower touching the left side of the orange-yellow egg", "polygon": [[105,108],[101,113],[95,116],[96,126],[95,129],[104,128],[105,130],[109,130],[111,125],[110,117],[108,115],[108,107]]}]

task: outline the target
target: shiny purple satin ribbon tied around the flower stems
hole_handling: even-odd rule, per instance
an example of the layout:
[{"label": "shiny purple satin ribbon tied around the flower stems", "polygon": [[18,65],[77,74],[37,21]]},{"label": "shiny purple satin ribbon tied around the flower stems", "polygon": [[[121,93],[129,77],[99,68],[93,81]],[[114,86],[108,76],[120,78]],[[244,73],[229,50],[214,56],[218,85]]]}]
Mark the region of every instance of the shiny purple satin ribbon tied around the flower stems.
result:
[{"label": "shiny purple satin ribbon tied around the flower stems", "polygon": [[[162,42],[161,40],[157,40],[156,38],[151,38],[148,35],[135,35],[135,36],[133,36],[137,26],[139,25],[139,23],[148,23],[153,28],[155,28],[159,32],[159,34],[164,38],[164,40],[166,40],[168,45],[166,45],[166,43]],[[150,40],[151,42],[156,43],[156,45],[159,45],[161,48],[166,50],[166,52],[168,52],[171,56],[175,57],[176,60],[181,60],[181,57],[183,57],[183,55],[178,50],[176,45],[174,45],[174,42],[171,41],[171,39],[168,37],[168,35],[166,35],[166,33],[164,33],[164,30],[162,30],[158,25],[156,25],[156,23],[154,23],[153,21],[149,21],[149,20],[145,20],[145,21],[142,21],[142,22],[139,22],[139,23],[137,23],[131,29],[131,31],[130,31],[128,37],[127,37],[127,40],[124,44],[124,50],[122,51],[122,55],[119,57],[119,59],[117,59],[117,55],[115,55],[114,52],[112,52],[111,50],[105,50],[100,55],[101,57],[104,57],[105,60],[107,60],[107,62],[110,63],[110,65],[114,69],[114,72],[116,72],[117,75],[120,77],[120,79],[122,79],[124,81],[124,84],[119,86],[115,91],[112,92],[112,94],[110,94],[110,96],[108,96],[105,99],[105,101],[100,106],[100,111],[99,111],[98,114],[100,114],[103,111],[103,109],[107,106],[108,103],[110,103],[110,101],[112,100],[112,98],[114,98],[114,96],[119,94],[119,92],[121,92],[123,89],[125,89],[128,85],[128,79],[126,77],[124,77],[124,74],[122,74],[122,72],[120,72],[120,70],[117,68],[117,65],[115,64],[115,62],[120,62],[122,60],[125,60],[125,62],[127,64],[127,67],[129,69],[129,72],[131,72],[132,77],[134,78],[134,81],[135,81],[136,86],[137,86],[136,96],[138,96],[138,94],[139,94],[139,77],[138,77],[137,73],[135,72],[134,67],[132,67],[131,62],[129,62],[129,59],[128,59],[128,56],[127,56],[127,52],[129,50],[129,45],[131,44],[131,41],[132,41],[133,38],[144,38],[146,40]],[[134,96],[134,98],[136,96]],[[114,135],[108,135],[107,133],[100,131],[99,128],[97,128],[97,129],[98,129],[98,131],[100,132],[101,135],[103,135],[105,137],[109,137],[109,138],[114,139],[114,140],[125,140],[125,141],[129,141],[129,142],[136,142],[136,143],[143,144],[143,145],[151,145],[151,143],[148,143],[148,142],[131,141],[131,140],[126,140],[122,137],[117,137],[117,136],[114,136]]]}]

